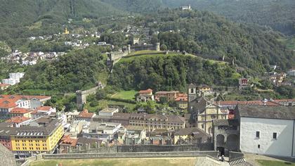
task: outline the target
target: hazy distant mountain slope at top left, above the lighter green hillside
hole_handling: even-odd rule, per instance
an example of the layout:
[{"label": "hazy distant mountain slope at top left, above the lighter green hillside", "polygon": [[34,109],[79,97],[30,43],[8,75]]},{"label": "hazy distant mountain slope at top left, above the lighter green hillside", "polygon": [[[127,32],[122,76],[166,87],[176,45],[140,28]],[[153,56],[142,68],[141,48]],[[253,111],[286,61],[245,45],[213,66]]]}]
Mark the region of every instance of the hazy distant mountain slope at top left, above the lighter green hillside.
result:
[{"label": "hazy distant mountain slope at top left, above the lighter green hillside", "polygon": [[41,19],[99,17],[121,13],[100,0],[1,0],[1,26],[30,25]]}]

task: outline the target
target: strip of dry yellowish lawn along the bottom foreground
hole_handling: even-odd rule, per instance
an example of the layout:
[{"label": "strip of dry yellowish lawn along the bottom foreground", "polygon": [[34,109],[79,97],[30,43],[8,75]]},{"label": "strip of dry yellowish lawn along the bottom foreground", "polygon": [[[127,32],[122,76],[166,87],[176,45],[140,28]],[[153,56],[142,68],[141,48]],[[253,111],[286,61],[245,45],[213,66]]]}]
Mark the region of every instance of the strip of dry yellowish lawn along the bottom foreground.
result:
[{"label": "strip of dry yellowish lawn along the bottom foreground", "polygon": [[176,165],[195,165],[196,158],[120,158],[120,159],[81,159],[81,160],[41,160],[32,162],[31,166],[55,166],[62,163],[63,166],[176,166]]}]

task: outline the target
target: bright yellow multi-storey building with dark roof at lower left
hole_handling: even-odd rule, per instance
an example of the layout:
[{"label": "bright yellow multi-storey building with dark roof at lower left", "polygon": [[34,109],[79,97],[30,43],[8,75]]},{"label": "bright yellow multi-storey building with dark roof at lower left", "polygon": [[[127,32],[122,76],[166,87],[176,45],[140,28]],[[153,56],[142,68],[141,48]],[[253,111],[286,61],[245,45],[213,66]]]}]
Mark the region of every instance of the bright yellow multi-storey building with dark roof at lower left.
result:
[{"label": "bright yellow multi-storey building with dark roof at lower left", "polygon": [[53,153],[63,134],[63,125],[59,120],[32,122],[11,135],[12,151],[20,156]]}]

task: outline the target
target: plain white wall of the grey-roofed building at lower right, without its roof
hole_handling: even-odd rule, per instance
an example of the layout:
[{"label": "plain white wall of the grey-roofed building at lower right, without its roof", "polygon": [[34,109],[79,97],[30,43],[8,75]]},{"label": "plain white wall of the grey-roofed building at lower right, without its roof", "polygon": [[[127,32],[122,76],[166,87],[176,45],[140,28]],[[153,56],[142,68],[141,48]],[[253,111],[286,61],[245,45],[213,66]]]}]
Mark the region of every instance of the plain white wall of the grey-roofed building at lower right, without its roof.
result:
[{"label": "plain white wall of the grey-roofed building at lower right, without its roof", "polygon": [[[295,156],[294,120],[240,118],[240,150],[245,153]],[[256,136],[256,132],[258,136]],[[277,139],[274,139],[276,133]]]}]

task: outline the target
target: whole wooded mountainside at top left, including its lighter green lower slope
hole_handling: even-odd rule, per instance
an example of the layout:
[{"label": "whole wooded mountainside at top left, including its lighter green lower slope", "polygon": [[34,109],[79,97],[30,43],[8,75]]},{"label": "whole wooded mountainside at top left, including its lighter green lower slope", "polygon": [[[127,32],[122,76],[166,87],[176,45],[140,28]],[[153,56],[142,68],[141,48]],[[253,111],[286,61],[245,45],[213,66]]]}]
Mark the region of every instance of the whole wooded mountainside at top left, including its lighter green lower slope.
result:
[{"label": "whole wooded mountainside at top left, including its lighter green lower slope", "polygon": [[1,0],[0,8],[0,41],[9,45],[29,36],[57,34],[70,18],[124,14],[100,0]]}]

